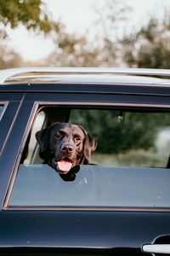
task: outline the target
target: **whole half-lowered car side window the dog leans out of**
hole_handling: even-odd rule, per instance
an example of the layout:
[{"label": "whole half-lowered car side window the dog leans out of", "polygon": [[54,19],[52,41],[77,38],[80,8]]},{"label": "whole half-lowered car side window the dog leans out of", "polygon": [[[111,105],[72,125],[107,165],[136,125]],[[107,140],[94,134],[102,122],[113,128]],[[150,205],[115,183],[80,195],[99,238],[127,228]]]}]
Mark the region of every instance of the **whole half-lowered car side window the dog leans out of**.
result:
[{"label": "whole half-lowered car side window the dog leans out of", "polygon": [[[170,207],[169,112],[46,108],[37,114],[27,139],[9,207]],[[49,152],[44,148],[53,151],[61,146],[53,148],[54,141],[50,144],[49,140],[41,141],[41,145],[35,134],[40,131],[38,137],[41,134],[44,139],[54,122],[78,125],[79,130],[88,134],[88,143],[94,140],[88,165],[83,162],[62,174],[56,166],[65,163],[48,160]],[[61,134],[54,136],[57,140]],[[97,148],[94,142],[98,143]],[[80,147],[79,143],[78,140]]]}]

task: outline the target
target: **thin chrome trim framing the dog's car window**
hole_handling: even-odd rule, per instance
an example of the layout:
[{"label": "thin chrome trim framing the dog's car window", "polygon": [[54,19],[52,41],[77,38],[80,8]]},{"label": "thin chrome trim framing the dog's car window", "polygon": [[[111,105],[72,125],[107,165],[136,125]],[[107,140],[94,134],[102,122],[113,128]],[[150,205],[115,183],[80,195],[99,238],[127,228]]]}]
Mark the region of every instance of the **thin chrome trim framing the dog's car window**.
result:
[{"label": "thin chrome trim framing the dog's car window", "polygon": [[17,157],[17,160],[14,164],[14,171],[12,172],[11,179],[8,183],[8,189],[5,195],[5,198],[3,200],[3,211],[111,211],[111,212],[118,212],[118,211],[123,211],[123,212],[170,212],[170,207],[70,207],[70,206],[65,206],[65,207],[33,207],[33,206],[25,206],[25,207],[20,207],[20,206],[8,206],[8,201],[10,198],[10,195],[13,190],[14,186],[14,181],[17,176],[17,172],[20,166],[20,159],[22,155],[22,151],[25,147],[26,144],[26,139],[28,137],[28,134],[31,129],[31,125],[33,123],[33,120],[36,117],[36,113],[38,108],[42,108],[43,106],[66,106],[66,107],[87,107],[87,106],[97,106],[97,107],[133,107],[133,108],[170,108],[170,105],[160,105],[160,104],[138,104],[138,103],[110,103],[110,102],[34,102],[33,108],[31,110],[31,115],[30,118],[28,119],[28,123],[26,125],[26,131],[24,133],[22,142],[20,143],[20,150],[19,150],[19,155]]}]

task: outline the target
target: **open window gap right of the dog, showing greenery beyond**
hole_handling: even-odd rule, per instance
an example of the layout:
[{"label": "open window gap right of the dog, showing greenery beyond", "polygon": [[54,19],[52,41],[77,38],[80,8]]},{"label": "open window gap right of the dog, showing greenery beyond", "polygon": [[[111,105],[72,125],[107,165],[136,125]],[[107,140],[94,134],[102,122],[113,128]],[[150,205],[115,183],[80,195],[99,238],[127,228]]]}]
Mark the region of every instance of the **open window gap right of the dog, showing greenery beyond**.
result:
[{"label": "open window gap right of the dog, showing greenery beyond", "polygon": [[106,166],[167,167],[170,113],[141,110],[75,109],[70,121],[81,124],[98,142],[92,162]]}]

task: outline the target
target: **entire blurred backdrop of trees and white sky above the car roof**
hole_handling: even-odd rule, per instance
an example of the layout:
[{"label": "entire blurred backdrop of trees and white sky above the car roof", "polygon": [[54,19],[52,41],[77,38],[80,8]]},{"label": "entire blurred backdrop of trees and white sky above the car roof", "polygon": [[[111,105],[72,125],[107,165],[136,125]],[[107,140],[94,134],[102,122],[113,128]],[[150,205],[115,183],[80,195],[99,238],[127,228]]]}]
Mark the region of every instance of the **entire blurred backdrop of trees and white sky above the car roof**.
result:
[{"label": "entire blurred backdrop of trees and white sky above the car roof", "polygon": [[0,0],[0,69],[170,68],[169,0]]}]

